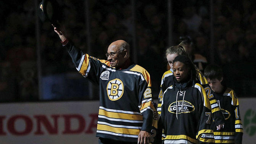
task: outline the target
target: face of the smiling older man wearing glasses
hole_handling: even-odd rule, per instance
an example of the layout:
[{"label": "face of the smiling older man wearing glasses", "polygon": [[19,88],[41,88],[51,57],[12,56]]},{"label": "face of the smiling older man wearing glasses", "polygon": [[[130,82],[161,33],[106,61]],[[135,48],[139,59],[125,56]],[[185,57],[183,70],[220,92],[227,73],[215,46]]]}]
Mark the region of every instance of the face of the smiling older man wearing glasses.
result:
[{"label": "face of the smiling older man wearing glasses", "polygon": [[127,58],[124,57],[123,51],[120,52],[119,46],[113,43],[109,45],[107,53],[110,54],[107,60],[110,62],[110,66],[112,67],[120,68],[127,60]]}]

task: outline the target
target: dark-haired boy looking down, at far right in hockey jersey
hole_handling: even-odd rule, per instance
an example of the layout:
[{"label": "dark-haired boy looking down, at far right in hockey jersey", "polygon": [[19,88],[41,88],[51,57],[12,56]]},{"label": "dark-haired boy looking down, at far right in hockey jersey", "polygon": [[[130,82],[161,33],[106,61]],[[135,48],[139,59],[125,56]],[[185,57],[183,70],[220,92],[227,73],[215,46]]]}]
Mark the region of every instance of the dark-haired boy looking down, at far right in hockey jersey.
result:
[{"label": "dark-haired boy looking down, at far right in hockey jersey", "polygon": [[207,78],[208,84],[211,87],[206,87],[205,90],[213,91],[214,97],[219,103],[222,114],[225,117],[224,128],[217,131],[212,123],[214,131],[215,143],[225,144],[241,144],[243,136],[243,126],[239,114],[239,104],[235,92],[222,84],[223,74],[222,69],[217,65],[208,65],[204,70],[204,76]]}]

